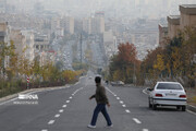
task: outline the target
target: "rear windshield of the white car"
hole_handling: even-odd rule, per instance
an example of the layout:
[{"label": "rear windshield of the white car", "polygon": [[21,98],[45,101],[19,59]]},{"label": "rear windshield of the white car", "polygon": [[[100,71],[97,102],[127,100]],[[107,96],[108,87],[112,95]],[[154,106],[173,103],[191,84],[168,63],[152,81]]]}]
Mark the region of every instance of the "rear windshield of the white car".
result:
[{"label": "rear windshield of the white car", "polygon": [[180,84],[159,83],[157,90],[183,90]]}]

